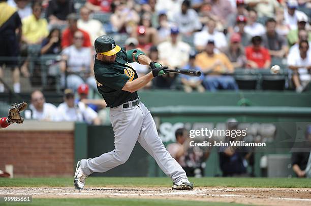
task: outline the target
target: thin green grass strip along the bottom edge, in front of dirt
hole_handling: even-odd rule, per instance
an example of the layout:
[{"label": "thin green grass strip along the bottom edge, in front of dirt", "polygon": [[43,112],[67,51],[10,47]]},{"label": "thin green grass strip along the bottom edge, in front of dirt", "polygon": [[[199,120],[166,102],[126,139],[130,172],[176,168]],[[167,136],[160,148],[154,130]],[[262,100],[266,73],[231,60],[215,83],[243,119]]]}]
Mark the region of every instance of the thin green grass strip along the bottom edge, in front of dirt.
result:
[{"label": "thin green grass strip along the bottom edge, in front of dirt", "polygon": [[137,205],[148,205],[148,206],[189,206],[189,205],[206,205],[206,206],[225,206],[225,205],[245,205],[245,204],[237,204],[237,203],[223,203],[223,202],[203,202],[203,201],[183,201],[183,200],[167,200],[167,199],[117,199],[117,198],[83,198],[83,199],[33,199],[32,203],[4,203],[2,205],[38,205],[38,206],[54,206],[54,205],[62,205],[62,206],[79,206],[79,205],[92,205],[92,206],[137,206]]}]

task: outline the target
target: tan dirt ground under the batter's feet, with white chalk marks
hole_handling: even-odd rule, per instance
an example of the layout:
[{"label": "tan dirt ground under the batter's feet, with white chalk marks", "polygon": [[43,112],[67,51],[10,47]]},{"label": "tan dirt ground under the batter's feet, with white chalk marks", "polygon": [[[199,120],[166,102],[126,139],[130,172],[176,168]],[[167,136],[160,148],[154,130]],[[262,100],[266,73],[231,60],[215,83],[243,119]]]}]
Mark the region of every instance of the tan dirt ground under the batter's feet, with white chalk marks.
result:
[{"label": "tan dirt ground under the batter's feet, with white chalk marks", "polygon": [[197,187],[192,191],[174,191],[163,187],[85,187],[83,190],[73,187],[0,187],[0,195],[8,194],[33,195],[33,198],[159,198],[256,205],[311,205],[311,188]]}]

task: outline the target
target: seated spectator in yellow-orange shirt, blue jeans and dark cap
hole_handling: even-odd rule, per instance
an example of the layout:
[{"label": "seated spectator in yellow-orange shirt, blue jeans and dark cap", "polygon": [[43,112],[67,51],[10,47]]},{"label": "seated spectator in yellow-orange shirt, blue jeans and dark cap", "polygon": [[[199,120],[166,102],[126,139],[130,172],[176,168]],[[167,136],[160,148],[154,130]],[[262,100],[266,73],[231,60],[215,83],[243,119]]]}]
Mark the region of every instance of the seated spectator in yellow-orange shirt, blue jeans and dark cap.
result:
[{"label": "seated spectator in yellow-orange shirt, blue jeans and dark cap", "polygon": [[196,57],[196,65],[206,74],[203,81],[204,87],[211,92],[217,89],[238,90],[234,78],[226,75],[233,73],[233,65],[225,54],[215,54],[214,49],[214,41],[208,40],[205,51]]}]

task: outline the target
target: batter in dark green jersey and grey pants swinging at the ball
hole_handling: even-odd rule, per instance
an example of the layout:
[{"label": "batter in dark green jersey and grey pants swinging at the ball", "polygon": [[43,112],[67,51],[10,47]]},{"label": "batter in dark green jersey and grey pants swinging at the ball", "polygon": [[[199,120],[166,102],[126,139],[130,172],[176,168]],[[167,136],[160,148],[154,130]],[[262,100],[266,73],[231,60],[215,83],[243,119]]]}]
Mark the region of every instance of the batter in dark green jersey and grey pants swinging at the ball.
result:
[{"label": "batter in dark green jersey and grey pants swinging at the ball", "polygon": [[[165,74],[165,66],[152,62],[142,51],[125,51],[110,36],[95,40],[94,73],[97,89],[110,107],[115,149],[99,157],[81,159],[74,176],[76,189],[83,189],[85,179],[92,173],[103,173],[125,163],[136,141],[157,161],[162,171],[173,180],[172,189],[191,190],[186,173],[171,157],[159,138],[150,111],[140,101],[137,91],[154,77]],[[129,63],[149,65],[148,74],[138,78]]]}]

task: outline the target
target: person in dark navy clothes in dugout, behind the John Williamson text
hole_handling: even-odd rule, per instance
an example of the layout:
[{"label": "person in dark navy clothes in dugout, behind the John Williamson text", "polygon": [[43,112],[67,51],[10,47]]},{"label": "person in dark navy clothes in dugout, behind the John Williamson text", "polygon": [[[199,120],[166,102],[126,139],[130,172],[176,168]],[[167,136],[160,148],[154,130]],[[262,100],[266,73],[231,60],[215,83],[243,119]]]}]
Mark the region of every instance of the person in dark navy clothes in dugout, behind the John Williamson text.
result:
[{"label": "person in dark navy clothes in dugout, behind the John Williamson text", "polygon": [[[235,120],[235,119],[234,119]],[[238,122],[231,119],[227,122],[227,130],[237,130]],[[237,135],[236,138],[231,136],[225,137],[225,142],[229,144],[228,147],[222,146],[219,148],[219,163],[223,172],[223,177],[230,176],[249,176],[247,174],[247,159],[250,158],[251,152],[247,147],[233,147],[230,142],[240,141],[242,135]]]}]

